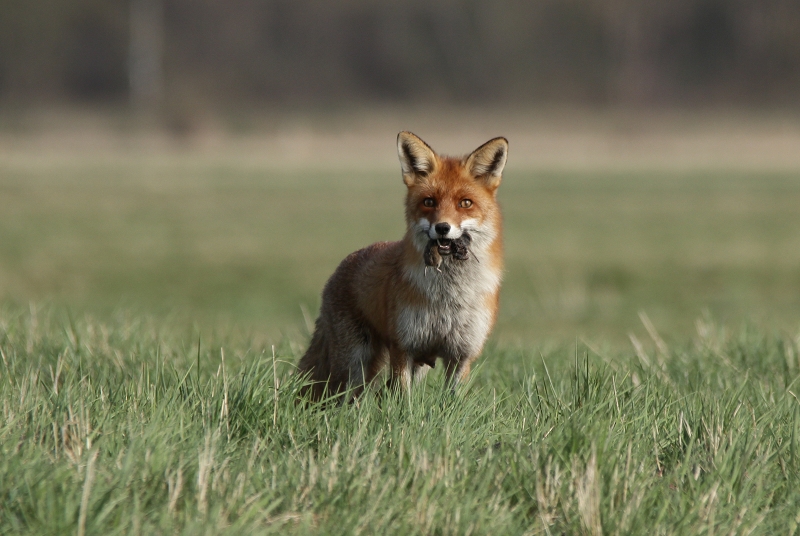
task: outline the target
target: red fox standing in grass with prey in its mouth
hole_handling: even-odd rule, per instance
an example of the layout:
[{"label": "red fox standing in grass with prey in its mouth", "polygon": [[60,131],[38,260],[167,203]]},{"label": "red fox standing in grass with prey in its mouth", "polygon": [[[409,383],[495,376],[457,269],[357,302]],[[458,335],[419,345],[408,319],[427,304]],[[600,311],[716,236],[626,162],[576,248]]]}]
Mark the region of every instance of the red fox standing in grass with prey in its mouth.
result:
[{"label": "red fox standing in grass with prey in its mouth", "polygon": [[469,374],[497,317],[503,271],[496,192],[508,141],[494,138],[463,158],[437,155],[410,132],[397,136],[408,187],[406,234],[345,258],[299,371],[319,400],[357,396],[388,363],[405,391],[441,357],[455,389]]}]

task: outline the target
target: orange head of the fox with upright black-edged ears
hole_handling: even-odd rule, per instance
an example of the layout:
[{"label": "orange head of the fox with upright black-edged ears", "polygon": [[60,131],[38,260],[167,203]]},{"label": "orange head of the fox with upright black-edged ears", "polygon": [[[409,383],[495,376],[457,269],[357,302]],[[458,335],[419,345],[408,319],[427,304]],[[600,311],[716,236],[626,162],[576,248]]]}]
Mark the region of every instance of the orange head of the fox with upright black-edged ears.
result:
[{"label": "orange head of the fox with upright black-edged ears", "polygon": [[508,140],[494,138],[463,158],[439,156],[411,132],[397,135],[397,154],[408,187],[406,223],[423,251],[437,240],[450,253],[451,241],[467,235],[486,247],[500,233],[496,192],[508,156]]}]

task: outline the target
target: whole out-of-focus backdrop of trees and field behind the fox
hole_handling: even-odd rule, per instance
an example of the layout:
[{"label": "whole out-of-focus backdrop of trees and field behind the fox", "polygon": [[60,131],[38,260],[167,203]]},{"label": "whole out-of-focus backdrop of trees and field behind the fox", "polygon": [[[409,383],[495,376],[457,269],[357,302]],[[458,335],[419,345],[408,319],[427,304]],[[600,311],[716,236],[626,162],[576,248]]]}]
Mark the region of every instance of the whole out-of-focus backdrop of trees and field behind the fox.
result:
[{"label": "whole out-of-focus backdrop of trees and field behind the fox", "polygon": [[[511,142],[496,338],[800,328],[791,0],[4,0],[0,300],[304,342],[396,133]],[[699,324],[698,324],[699,322]]]}]

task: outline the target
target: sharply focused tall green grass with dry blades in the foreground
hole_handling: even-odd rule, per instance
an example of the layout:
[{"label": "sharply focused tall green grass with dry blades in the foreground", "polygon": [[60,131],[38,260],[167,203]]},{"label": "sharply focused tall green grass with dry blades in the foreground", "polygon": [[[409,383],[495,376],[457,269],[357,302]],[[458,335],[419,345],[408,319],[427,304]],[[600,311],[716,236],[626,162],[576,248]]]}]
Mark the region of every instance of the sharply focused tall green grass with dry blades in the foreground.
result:
[{"label": "sharply focused tall green grass with dry blades in the foreground", "polygon": [[[792,534],[798,343],[488,350],[466,392],[297,403],[297,341],[0,312],[0,531]],[[199,343],[199,344],[198,344]],[[439,372],[438,370],[435,372]]]}]

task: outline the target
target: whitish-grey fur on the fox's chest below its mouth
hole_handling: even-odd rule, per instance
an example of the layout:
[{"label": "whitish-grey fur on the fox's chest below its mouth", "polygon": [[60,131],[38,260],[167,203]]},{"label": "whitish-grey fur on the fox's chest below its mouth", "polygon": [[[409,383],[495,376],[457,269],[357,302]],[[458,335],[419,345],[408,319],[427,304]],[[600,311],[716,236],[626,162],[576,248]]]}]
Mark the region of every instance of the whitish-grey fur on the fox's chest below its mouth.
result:
[{"label": "whitish-grey fur on the fox's chest below its mouth", "polygon": [[441,273],[424,265],[406,270],[406,279],[427,302],[406,306],[398,315],[398,338],[414,354],[437,352],[443,357],[477,355],[492,326],[490,298],[500,286],[500,274],[471,256],[444,259]]}]

